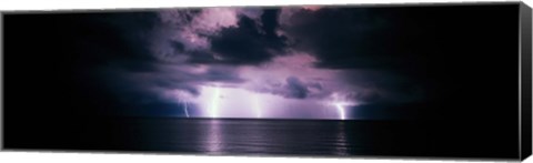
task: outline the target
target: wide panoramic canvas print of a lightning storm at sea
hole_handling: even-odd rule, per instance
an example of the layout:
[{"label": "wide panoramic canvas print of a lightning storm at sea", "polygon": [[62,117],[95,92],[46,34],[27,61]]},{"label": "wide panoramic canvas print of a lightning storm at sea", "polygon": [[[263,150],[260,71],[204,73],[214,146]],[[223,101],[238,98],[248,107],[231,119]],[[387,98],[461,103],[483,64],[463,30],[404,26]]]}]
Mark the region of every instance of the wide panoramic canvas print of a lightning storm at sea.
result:
[{"label": "wide panoramic canvas print of a lightning storm at sea", "polygon": [[519,160],[530,19],[519,2],[4,12],[3,147]]}]

